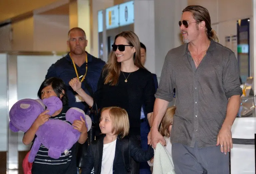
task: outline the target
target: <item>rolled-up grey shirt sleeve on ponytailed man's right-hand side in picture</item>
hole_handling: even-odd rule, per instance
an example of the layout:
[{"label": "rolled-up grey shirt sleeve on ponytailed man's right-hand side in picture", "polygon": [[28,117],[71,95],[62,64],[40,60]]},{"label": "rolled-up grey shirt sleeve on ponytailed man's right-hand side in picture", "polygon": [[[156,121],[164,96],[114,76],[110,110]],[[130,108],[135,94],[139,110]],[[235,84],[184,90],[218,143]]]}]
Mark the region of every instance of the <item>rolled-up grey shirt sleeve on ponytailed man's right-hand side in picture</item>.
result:
[{"label": "rolled-up grey shirt sleeve on ponytailed man's right-hand side in picture", "polygon": [[223,67],[222,83],[225,95],[230,98],[233,95],[242,95],[242,89],[239,81],[239,70],[235,54],[230,53]]}]

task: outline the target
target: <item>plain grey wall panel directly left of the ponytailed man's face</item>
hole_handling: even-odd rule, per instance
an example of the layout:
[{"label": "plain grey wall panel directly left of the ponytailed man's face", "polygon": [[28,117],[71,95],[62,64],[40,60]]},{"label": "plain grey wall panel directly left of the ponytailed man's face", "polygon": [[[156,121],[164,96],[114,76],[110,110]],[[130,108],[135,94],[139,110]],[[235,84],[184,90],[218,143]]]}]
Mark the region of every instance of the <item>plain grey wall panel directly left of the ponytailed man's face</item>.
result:
[{"label": "plain grey wall panel directly left of the ponytailed man's face", "polygon": [[155,72],[159,78],[167,52],[182,44],[178,21],[187,0],[155,0]]}]

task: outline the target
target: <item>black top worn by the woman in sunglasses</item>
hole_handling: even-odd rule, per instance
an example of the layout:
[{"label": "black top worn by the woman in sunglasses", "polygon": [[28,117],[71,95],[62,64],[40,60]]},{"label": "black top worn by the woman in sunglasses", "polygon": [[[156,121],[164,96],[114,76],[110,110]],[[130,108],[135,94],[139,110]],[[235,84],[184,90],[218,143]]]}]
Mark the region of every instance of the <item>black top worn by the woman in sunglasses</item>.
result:
[{"label": "black top worn by the woman in sunglasses", "polygon": [[[127,82],[124,76],[129,76]],[[142,68],[131,73],[121,72],[116,86],[104,85],[105,77],[106,73],[99,78],[94,96],[98,108],[118,106],[125,109],[130,121],[130,135],[140,135],[142,104],[145,104],[147,113],[153,112],[154,108],[155,85],[152,74]]]}]

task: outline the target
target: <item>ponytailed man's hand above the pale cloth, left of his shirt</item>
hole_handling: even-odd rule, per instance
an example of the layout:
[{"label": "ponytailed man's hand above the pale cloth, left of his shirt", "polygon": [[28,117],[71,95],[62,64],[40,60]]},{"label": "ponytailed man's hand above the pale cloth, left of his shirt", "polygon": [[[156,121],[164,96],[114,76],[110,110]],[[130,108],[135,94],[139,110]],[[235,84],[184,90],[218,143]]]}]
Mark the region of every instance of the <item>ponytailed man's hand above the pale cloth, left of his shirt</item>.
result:
[{"label": "ponytailed man's hand above the pale cloth, left of his shirt", "polygon": [[152,147],[155,149],[157,143],[162,144],[162,146],[166,146],[164,137],[158,132],[157,129],[152,128],[148,134],[148,144],[152,145]]}]

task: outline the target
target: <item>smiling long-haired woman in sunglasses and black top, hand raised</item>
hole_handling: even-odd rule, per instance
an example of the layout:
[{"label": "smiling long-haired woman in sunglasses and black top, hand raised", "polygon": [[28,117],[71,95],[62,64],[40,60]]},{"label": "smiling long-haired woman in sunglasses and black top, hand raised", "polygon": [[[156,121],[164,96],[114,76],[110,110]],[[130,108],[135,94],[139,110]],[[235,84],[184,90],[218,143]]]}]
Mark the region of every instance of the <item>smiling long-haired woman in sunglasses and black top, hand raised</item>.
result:
[{"label": "smiling long-haired woman in sunglasses and black top, hand raised", "polygon": [[[141,106],[145,104],[149,118],[153,113],[155,85],[152,74],[141,63],[140,41],[134,32],[124,31],[116,35],[94,98],[81,89],[77,78],[72,79],[69,85],[91,107],[96,102],[98,108],[124,108],[129,115],[129,137],[140,144]],[[132,173],[138,173],[138,165],[134,163]]]}]

